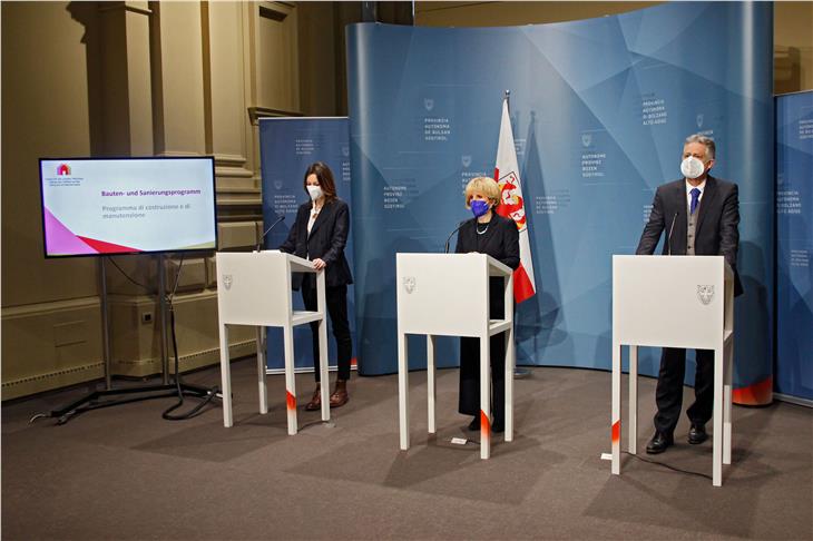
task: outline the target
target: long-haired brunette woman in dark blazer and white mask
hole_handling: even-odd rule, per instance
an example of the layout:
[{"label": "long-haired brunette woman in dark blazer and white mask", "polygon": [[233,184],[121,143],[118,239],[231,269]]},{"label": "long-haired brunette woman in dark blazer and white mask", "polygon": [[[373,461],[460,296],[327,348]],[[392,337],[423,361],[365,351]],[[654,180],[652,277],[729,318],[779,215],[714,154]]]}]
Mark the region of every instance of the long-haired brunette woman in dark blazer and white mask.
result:
[{"label": "long-haired brunette woman in dark blazer and white mask", "polygon": [[[352,341],[347,323],[347,285],[353,283],[344,246],[350,233],[350,210],[347,204],[336,196],[333,173],[323,163],[316,161],[305,171],[304,189],[310,200],[300,206],[288,237],[280,246],[281,252],[313,262],[313,267],[325,273],[325,299],[327,314],[336,338],[339,376],[331,394],[331,407],[343,406],[347,400],[347,380],[350,380],[350,358]],[[307,273],[295,275],[301,278],[302,299],[305,309],[316,309],[316,279]],[[298,279],[295,281],[296,287]],[[319,323],[311,323],[313,334],[313,367],[316,375],[316,391],[305,410],[316,411],[322,407],[319,371]]]}]

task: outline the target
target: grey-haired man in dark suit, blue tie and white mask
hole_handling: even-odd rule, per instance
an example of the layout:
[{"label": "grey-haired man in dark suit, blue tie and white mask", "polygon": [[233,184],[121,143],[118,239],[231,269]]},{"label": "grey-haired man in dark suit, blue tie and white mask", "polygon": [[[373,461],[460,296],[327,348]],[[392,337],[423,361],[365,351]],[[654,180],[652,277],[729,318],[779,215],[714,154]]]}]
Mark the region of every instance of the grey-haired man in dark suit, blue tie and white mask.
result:
[{"label": "grey-haired man in dark suit, blue tie and white mask", "polygon": [[[684,178],[658,187],[649,222],[635,253],[652,255],[664,233],[664,255],[722,255],[734,270],[734,294],[739,295],[743,288],[736,272],[739,243],[737,185],[708,174],[714,166],[715,153],[713,139],[702,135],[686,138],[680,163]],[[696,357],[695,403],[686,410],[692,423],[688,433],[690,444],[703,443],[708,437],[705,425],[712,419],[714,403],[714,352],[697,350]],[[655,435],[646,446],[649,454],[663,453],[674,443],[685,371],[686,350],[664,347],[655,392],[658,406]]]}]

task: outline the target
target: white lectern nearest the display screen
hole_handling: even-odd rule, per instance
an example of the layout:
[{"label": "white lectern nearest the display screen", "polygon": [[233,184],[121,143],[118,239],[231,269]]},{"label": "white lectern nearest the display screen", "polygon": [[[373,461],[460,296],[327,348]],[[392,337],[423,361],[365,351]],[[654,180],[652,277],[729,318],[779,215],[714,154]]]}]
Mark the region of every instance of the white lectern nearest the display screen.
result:
[{"label": "white lectern nearest the display screen", "polygon": [[[296,382],[294,380],[294,326],[319,322],[322,420],[330,420],[327,395],[327,329],[325,322],[324,273],[307,259],[282,252],[218,252],[217,313],[221,332],[221,375],[223,378],[223,424],[232,426],[232,373],[228,358],[228,325],[257,327],[257,376],[259,413],[268,413],[265,385],[265,327],[282,327],[285,351],[285,390],[288,434],[296,434]],[[291,274],[316,273],[316,312],[293,309]]]}]

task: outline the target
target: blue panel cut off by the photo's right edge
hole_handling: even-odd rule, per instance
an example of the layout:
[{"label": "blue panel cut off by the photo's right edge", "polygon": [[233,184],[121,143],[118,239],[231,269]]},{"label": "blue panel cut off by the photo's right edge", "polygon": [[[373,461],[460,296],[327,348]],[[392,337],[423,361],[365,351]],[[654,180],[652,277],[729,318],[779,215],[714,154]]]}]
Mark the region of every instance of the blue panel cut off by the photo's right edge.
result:
[{"label": "blue panel cut off by the photo's right edge", "polygon": [[776,392],[813,400],[813,92],[776,98]]}]

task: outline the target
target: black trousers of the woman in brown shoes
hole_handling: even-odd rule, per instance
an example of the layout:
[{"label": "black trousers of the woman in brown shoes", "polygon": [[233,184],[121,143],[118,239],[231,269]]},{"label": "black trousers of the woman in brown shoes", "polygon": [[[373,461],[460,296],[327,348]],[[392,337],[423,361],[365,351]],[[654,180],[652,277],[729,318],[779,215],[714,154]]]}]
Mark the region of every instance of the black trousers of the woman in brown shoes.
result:
[{"label": "black trousers of the woman in brown shoes", "polygon": [[[302,281],[302,301],[305,302],[305,309],[316,309],[316,281],[313,274],[305,274]],[[325,287],[325,302],[327,315],[331,318],[333,337],[336,338],[336,357],[339,364],[339,378],[350,380],[350,357],[353,354],[353,341],[350,337],[350,323],[347,323],[347,286]],[[320,380],[319,364],[319,322],[311,323],[313,338],[313,368],[316,383]]]}]

